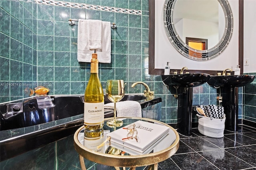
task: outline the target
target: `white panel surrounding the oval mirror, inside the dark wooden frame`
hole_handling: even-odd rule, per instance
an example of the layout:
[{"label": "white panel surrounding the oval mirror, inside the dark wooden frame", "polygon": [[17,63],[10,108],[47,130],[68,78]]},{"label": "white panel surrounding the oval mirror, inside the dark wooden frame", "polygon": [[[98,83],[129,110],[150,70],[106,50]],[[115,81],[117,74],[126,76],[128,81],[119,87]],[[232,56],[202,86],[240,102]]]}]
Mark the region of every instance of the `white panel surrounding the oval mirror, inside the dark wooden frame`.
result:
[{"label": "white panel surrounding the oval mirror, inside the dark wooden frame", "polygon": [[180,54],[170,43],[163,23],[163,10],[165,0],[155,2],[155,68],[164,68],[166,62],[170,62],[171,69],[181,69],[186,66],[191,70],[224,70],[236,68],[238,65],[238,0],[229,0],[234,16],[234,29],[232,38],[227,48],[208,61],[190,60]]}]

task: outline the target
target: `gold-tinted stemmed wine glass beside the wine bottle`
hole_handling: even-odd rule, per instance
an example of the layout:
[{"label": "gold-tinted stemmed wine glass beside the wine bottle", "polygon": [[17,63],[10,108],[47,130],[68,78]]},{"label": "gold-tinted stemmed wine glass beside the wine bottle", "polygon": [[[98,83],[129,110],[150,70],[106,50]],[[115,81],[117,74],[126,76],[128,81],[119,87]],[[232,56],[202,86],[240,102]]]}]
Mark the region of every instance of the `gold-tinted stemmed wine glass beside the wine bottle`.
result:
[{"label": "gold-tinted stemmed wine glass beside the wine bottle", "polygon": [[106,96],[111,102],[114,102],[114,119],[108,120],[109,127],[122,126],[122,120],[116,120],[116,102],[124,97],[124,80],[107,80]]}]

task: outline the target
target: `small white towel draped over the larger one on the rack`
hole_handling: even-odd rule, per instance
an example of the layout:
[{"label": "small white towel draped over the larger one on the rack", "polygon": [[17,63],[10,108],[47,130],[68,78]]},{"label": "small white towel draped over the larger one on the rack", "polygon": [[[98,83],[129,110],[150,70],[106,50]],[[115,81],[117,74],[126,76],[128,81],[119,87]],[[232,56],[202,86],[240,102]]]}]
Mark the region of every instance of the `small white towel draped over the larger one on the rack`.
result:
[{"label": "small white towel draped over the larger one on the rack", "polygon": [[102,21],[88,20],[89,49],[102,48]]}]

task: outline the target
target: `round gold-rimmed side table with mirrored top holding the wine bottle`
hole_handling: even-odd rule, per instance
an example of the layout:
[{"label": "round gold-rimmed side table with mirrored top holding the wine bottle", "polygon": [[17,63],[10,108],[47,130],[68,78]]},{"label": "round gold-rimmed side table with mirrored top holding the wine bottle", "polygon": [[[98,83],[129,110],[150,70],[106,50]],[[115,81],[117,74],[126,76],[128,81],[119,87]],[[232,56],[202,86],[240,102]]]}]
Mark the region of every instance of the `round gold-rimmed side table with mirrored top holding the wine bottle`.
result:
[{"label": "round gold-rimmed side table with mirrored top holding the wine bottle", "polygon": [[[114,128],[110,128],[106,126],[106,121],[111,118],[104,119],[104,130],[110,130],[112,132]],[[80,127],[74,134],[74,148],[76,152],[79,154],[80,165],[82,170],[86,170],[86,166],[84,164],[84,158],[90,160],[92,162],[96,162],[99,164],[104,164],[107,166],[114,166],[116,170],[120,170],[119,167],[130,167],[130,170],[135,170],[138,166],[148,166],[148,170],[157,170],[158,162],[162,162],[168,158],[170,158],[179,148],[179,134],[178,132],[163,122],[152,120],[148,118],[128,118],[128,117],[118,117],[118,119],[122,119],[126,126],[128,124],[132,124],[137,120],[152,122],[156,124],[162,124],[163,126],[169,127],[168,138],[160,139],[160,143],[154,147],[153,151],[148,154],[141,155],[112,155],[105,154],[102,152],[96,152],[84,146],[81,138],[78,138],[79,134],[83,134],[84,126]],[[170,140],[172,139],[172,140]],[[174,141],[174,142],[173,142]]]}]

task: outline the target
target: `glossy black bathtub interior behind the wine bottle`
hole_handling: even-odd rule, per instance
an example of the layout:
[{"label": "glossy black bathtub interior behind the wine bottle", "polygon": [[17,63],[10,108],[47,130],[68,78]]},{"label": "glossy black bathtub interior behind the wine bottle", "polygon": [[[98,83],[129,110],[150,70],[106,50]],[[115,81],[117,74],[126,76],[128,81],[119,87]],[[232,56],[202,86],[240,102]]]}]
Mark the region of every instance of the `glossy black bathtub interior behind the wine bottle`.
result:
[{"label": "glossy black bathtub interior behind the wine bottle", "polygon": [[[142,95],[125,95],[121,101],[146,99]],[[38,96],[21,102],[0,105],[0,130],[43,124],[84,113],[84,96]],[[110,100],[104,96],[104,104]],[[105,118],[113,116],[105,110]]]}]

